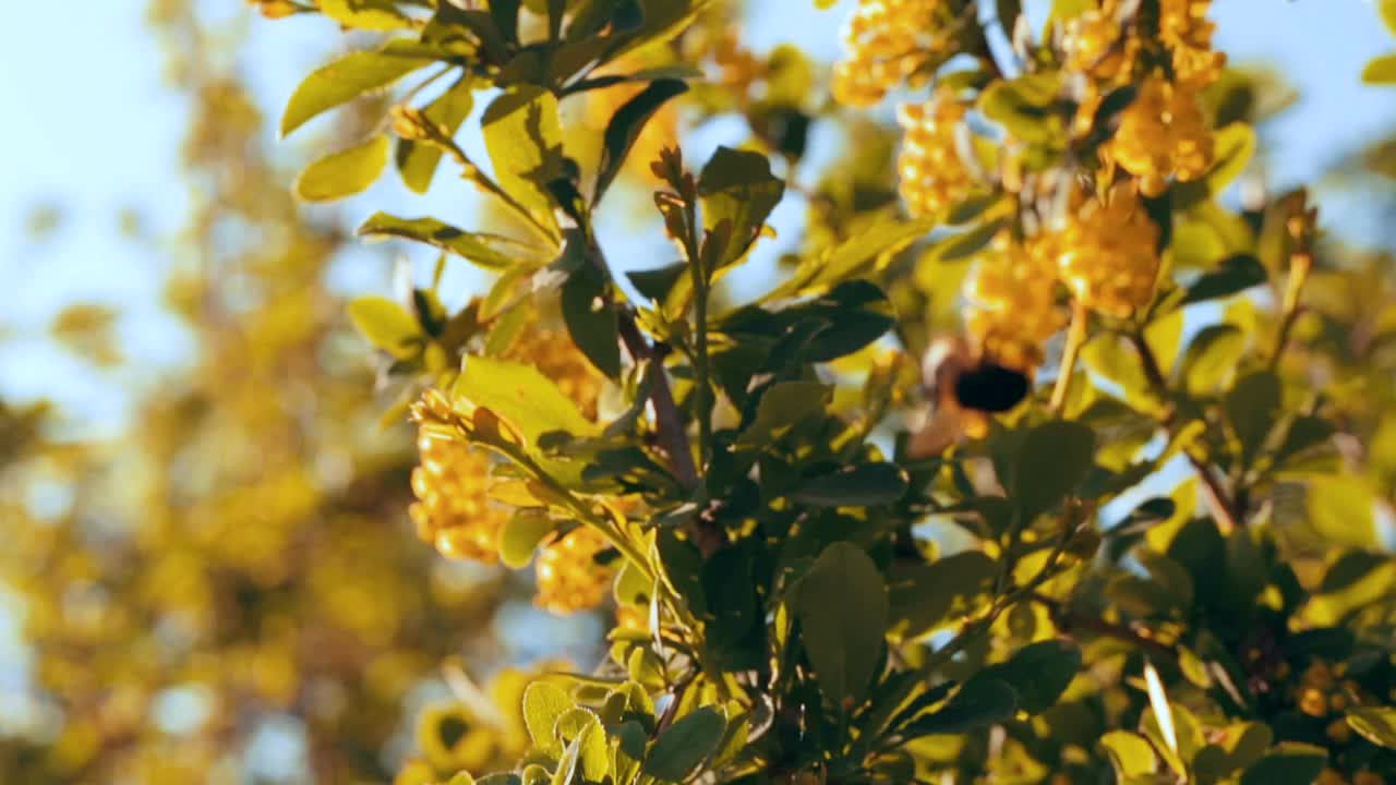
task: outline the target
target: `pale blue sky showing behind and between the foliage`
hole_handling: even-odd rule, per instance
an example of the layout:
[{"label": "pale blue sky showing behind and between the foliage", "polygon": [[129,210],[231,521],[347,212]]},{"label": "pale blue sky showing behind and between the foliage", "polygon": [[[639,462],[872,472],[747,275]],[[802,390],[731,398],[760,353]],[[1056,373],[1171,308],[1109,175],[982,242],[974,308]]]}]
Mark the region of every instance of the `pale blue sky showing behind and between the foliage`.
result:
[{"label": "pale blue sky showing behind and between the foliage", "polygon": [[[218,0],[209,8],[233,14],[229,20],[235,21],[244,13],[242,6]],[[751,6],[747,36],[757,49],[794,41],[829,57],[853,1],[843,0],[831,11],[814,10],[811,0]],[[1029,0],[1027,7],[1033,6]],[[1396,49],[1368,0],[1219,0],[1213,6],[1216,43],[1233,61],[1277,66],[1302,94],[1300,105],[1266,129],[1266,166],[1277,186],[1302,182],[1339,149],[1396,123],[1396,92],[1358,82],[1369,57]],[[151,369],[177,363],[188,349],[158,306],[163,254],[158,246],[123,237],[117,222],[119,210],[134,208],[156,237],[180,226],[187,196],[176,152],[184,102],[162,84],[162,54],[145,29],[145,0],[80,7],[77,13],[68,3],[21,3],[7,11],[10,29],[27,35],[13,36],[0,49],[0,95],[11,108],[10,122],[0,124],[0,149],[6,151],[0,282],[10,289],[0,309],[0,334],[8,335],[0,342],[0,391],[53,397],[78,420],[103,432],[120,426],[133,391],[154,379]],[[338,31],[322,20],[269,24],[253,18],[250,24],[253,43],[243,52],[240,70],[272,108],[279,108],[302,74],[342,45]],[[310,135],[313,129],[297,140]],[[718,129],[702,147],[725,135]],[[424,212],[436,204],[459,211],[463,186],[448,177],[438,183],[427,201],[412,201],[401,186],[385,183],[342,210],[349,222],[384,203],[405,212]],[[39,204],[59,207],[64,221],[53,236],[35,242],[24,226]],[[1342,207],[1353,210],[1330,205],[1328,215],[1342,214],[1344,232],[1371,233],[1360,204]],[[779,211],[783,236],[793,236],[800,215],[794,204]],[[387,285],[384,270],[343,268],[339,284],[346,289]],[[142,358],[138,369],[98,373],[54,352],[42,338],[53,314],[77,299],[123,309],[120,337],[128,352]]]}]

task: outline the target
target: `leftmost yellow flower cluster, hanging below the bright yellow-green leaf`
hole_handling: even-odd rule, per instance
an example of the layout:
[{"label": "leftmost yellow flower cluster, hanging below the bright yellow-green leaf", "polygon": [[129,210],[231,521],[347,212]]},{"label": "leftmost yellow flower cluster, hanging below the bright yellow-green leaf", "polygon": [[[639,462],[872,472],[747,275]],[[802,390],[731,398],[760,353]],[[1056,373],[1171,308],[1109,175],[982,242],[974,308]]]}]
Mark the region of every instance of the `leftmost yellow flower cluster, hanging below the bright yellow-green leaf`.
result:
[{"label": "leftmost yellow flower cluster, hanging below the bright yellow-green leaf", "polygon": [[436,390],[429,390],[413,406],[413,418],[423,427],[417,434],[422,462],[412,469],[417,501],[409,514],[417,536],[434,543],[444,556],[493,564],[508,515],[490,504],[489,457],[429,427],[448,419],[450,406]]}]

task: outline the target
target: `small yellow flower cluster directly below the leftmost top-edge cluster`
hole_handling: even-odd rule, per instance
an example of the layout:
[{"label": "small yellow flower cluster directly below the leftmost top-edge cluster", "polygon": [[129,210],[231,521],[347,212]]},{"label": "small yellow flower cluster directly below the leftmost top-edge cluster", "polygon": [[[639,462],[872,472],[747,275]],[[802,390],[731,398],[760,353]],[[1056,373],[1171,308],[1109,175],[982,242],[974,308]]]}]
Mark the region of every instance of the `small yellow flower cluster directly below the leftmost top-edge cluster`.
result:
[{"label": "small yellow flower cluster directly below the leftmost top-edge cluster", "polygon": [[940,89],[926,103],[903,103],[896,119],[906,133],[898,158],[906,210],[914,217],[934,217],[967,197],[974,179],[955,144],[965,105],[953,92]]}]

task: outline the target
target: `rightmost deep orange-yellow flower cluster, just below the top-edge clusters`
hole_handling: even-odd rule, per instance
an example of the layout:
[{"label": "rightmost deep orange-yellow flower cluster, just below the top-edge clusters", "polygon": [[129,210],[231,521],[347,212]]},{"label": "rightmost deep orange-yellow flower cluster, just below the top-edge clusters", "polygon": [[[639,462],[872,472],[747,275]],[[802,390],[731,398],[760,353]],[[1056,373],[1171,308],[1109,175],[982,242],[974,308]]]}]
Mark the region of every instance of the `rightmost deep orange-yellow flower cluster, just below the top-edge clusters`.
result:
[{"label": "rightmost deep orange-yellow flower cluster, just below the top-edge clusters", "polygon": [[1196,91],[1153,74],[1120,116],[1110,156],[1139,177],[1141,190],[1160,194],[1168,176],[1195,180],[1212,166],[1212,129]]}]

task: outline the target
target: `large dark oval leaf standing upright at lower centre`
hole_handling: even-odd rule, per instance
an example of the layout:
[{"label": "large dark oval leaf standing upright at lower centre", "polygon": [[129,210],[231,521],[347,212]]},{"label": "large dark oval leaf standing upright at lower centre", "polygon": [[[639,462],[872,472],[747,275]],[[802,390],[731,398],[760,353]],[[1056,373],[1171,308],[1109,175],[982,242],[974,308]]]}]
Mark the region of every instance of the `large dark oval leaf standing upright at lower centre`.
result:
[{"label": "large dark oval leaf standing upright at lower centre", "polygon": [[810,567],[796,605],[824,696],[838,707],[860,703],[882,659],[888,619],[882,573],[861,548],[835,542]]}]

